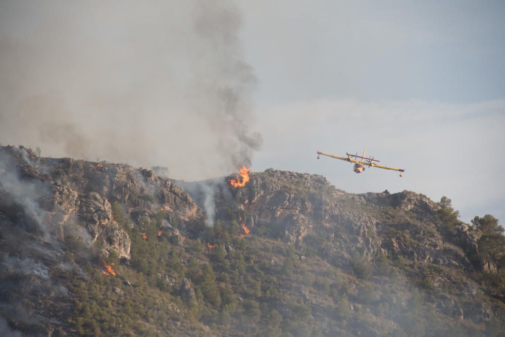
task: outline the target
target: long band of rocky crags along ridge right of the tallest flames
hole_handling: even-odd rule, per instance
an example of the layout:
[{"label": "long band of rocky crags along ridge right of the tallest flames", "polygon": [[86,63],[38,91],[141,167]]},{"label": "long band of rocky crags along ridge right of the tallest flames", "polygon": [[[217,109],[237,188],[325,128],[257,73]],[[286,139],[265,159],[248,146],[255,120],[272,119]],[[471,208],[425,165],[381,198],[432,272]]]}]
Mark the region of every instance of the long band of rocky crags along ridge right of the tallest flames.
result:
[{"label": "long band of rocky crags along ridge right of the tallest flames", "polygon": [[[225,188],[237,205],[235,212],[244,215],[242,221],[253,231],[265,227],[267,235],[293,245],[317,242],[315,237],[324,235],[330,244],[321,248],[323,255],[338,265],[348,264],[350,252],[358,251],[368,259],[391,254],[424,265],[472,268],[469,252],[476,251],[480,237],[461,224],[455,239],[462,247],[444,244],[433,226],[439,221],[439,204],[411,191],[352,195],[319,175],[272,169],[251,173],[244,187]],[[230,205],[223,196],[216,198],[220,214]],[[494,270],[486,261],[482,268]]]}]

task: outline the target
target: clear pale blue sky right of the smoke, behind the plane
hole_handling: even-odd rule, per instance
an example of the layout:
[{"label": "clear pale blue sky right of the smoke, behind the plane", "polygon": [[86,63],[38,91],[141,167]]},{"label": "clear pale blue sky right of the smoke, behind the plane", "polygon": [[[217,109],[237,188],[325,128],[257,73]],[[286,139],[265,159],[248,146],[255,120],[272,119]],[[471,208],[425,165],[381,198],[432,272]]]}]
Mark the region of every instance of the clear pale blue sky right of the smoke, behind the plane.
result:
[{"label": "clear pale blue sky right of the smoke, behind the plane", "polygon": [[[260,81],[254,169],[320,173],[351,192],[445,195],[464,221],[505,221],[505,3],[261,4],[242,5]],[[316,150],[365,147],[405,175],[316,160]]]}]

